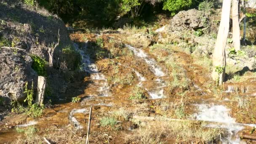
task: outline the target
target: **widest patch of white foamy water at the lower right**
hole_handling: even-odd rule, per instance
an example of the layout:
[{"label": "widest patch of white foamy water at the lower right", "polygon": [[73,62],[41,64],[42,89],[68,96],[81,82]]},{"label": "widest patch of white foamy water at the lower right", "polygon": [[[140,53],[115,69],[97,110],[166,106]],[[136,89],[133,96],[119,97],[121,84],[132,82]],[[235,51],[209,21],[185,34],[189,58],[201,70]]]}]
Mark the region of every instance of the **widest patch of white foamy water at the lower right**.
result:
[{"label": "widest patch of white foamy water at the lower right", "polygon": [[195,114],[196,120],[216,122],[218,124],[209,124],[211,128],[225,128],[229,135],[221,138],[223,144],[242,144],[237,133],[243,129],[243,126],[235,122],[235,119],[229,115],[230,109],[223,105],[197,104],[199,112]]}]

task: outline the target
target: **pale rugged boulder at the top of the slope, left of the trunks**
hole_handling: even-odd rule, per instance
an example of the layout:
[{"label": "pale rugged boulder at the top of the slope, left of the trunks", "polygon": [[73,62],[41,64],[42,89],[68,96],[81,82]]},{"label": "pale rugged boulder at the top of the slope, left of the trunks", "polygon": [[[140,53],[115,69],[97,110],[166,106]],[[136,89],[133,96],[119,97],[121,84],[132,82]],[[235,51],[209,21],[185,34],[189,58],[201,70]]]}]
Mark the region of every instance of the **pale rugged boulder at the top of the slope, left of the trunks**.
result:
[{"label": "pale rugged boulder at the top of the slope, left of the trunks", "polygon": [[188,11],[180,11],[173,19],[168,27],[169,31],[184,31],[184,30],[195,30],[203,28],[202,21],[203,12],[196,9]]}]

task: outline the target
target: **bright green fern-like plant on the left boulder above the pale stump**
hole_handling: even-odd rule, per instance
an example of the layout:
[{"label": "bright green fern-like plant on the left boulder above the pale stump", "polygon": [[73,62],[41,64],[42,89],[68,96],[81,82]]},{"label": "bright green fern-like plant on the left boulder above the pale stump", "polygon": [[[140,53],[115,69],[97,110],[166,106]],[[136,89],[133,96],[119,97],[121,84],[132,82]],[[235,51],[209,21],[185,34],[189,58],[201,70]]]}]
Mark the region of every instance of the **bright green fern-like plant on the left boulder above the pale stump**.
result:
[{"label": "bright green fern-like plant on the left boulder above the pale stump", "polygon": [[38,75],[41,76],[46,76],[46,64],[47,61],[45,61],[43,58],[40,58],[40,56],[37,55],[30,55],[31,58],[33,59],[33,63],[32,63],[32,68],[37,72]]}]

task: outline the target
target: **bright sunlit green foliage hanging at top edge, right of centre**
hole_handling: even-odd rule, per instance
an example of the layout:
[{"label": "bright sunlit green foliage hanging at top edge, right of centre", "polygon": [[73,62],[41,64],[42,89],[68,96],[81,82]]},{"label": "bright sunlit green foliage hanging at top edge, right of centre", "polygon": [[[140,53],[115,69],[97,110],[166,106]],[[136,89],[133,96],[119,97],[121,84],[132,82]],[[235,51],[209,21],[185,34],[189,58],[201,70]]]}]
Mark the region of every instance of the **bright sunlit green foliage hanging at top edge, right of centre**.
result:
[{"label": "bright sunlit green foliage hanging at top edge, right of centre", "polygon": [[192,5],[192,0],[163,0],[163,2],[163,10],[171,11],[172,16]]}]

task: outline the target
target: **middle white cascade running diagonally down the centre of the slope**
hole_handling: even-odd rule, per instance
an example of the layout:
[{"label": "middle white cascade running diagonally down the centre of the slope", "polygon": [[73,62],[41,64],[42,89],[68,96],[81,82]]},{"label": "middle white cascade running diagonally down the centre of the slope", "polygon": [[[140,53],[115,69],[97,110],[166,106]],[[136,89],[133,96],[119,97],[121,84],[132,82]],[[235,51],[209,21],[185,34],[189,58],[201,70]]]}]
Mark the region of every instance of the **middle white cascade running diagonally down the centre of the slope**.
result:
[{"label": "middle white cascade running diagonally down the centre of the slope", "polygon": [[[162,80],[161,77],[165,76],[165,73],[162,71],[161,67],[157,65],[157,62],[155,59],[149,58],[149,56],[141,49],[132,47],[131,45],[125,45],[128,47],[135,56],[143,59],[150,67],[151,71],[155,74],[157,77],[156,80],[152,81],[153,85],[155,85],[154,88],[145,88],[146,91],[148,91],[149,96],[151,96],[151,99],[160,99],[164,97],[164,90],[165,83]],[[144,77],[142,77],[139,72],[136,72],[136,75],[139,77],[140,83],[138,84],[140,87],[143,87],[142,81],[146,81]]]}]

